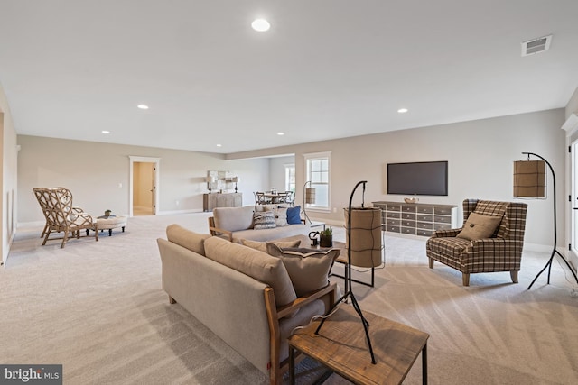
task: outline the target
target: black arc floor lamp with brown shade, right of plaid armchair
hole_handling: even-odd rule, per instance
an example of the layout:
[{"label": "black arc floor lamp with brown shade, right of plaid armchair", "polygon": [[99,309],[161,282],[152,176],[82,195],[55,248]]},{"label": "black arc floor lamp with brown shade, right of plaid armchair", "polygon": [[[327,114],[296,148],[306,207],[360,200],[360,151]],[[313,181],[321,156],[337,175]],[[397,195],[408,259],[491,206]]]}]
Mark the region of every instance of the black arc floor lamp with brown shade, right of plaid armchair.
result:
[{"label": "black arc floor lamp with brown shade, right of plaid armchair", "polygon": [[[527,155],[527,160],[517,160],[514,162],[514,196],[515,197],[545,197],[545,165],[552,173],[552,185],[554,187],[554,246],[552,248],[552,254],[550,259],[546,262],[544,268],[537,273],[530,286],[527,287],[529,290],[534,285],[534,282],[538,277],[548,268],[548,284],[550,284],[550,272],[552,270],[552,261],[554,260],[555,254],[558,254],[562,261],[566,263],[568,269],[572,272],[576,283],[578,283],[578,277],[576,273],[572,270],[570,263],[566,261],[564,255],[556,250],[556,177],[552,165],[545,160],[540,155],[534,152],[522,152],[522,154]],[[530,160],[530,155],[539,158],[540,160]]]}]

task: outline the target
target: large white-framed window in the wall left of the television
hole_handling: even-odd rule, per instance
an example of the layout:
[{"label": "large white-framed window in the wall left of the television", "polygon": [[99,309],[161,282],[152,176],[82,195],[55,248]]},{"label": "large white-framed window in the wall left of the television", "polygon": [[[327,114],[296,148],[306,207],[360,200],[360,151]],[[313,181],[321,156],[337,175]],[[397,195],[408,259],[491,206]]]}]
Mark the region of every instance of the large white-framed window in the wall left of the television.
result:
[{"label": "large white-framed window in the wall left of the television", "polygon": [[307,208],[330,211],[330,154],[305,154],[305,179],[311,181],[307,187],[315,188],[315,203],[307,204]]}]

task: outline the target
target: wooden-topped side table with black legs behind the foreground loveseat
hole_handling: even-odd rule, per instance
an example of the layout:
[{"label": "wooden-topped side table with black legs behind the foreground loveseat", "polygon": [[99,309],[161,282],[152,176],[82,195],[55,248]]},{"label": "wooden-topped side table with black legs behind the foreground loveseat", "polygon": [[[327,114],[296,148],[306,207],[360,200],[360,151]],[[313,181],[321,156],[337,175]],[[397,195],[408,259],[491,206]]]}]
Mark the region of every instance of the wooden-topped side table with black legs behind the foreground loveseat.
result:
[{"label": "wooden-topped side table with black legs behind the foreground loveseat", "polygon": [[303,353],[356,384],[401,384],[422,353],[422,381],[427,384],[429,335],[387,318],[363,312],[376,363],[371,363],[363,325],[350,305],[340,308],[323,324],[314,321],[289,337],[289,371],[294,384],[295,352]]}]

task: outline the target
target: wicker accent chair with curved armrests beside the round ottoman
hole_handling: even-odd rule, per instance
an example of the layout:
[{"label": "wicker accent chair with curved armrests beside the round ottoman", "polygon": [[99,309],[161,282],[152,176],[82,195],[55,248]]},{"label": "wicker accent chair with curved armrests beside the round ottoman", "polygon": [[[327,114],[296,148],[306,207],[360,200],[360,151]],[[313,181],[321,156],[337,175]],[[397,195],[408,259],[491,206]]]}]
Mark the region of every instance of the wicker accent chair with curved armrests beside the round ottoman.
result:
[{"label": "wicker accent chair with curved armrests beside the round ottoman", "polygon": [[52,232],[63,232],[62,238],[51,238],[62,240],[61,249],[68,242],[70,235],[80,238],[80,230],[86,230],[87,236],[90,230],[94,230],[94,237],[98,241],[96,219],[81,208],[72,206],[72,193],[68,188],[33,188],[33,191],[46,218],[46,225],[42,230],[44,235],[42,246],[49,240]]}]

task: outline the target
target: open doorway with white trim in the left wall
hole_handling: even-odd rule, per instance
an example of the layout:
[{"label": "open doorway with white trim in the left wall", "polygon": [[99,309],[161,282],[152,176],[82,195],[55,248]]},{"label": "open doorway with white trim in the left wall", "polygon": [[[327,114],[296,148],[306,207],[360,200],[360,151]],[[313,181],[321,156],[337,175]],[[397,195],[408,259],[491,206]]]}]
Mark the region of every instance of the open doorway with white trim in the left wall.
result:
[{"label": "open doorway with white trim in the left wall", "polygon": [[130,157],[130,216],[156,215],[159,158]]}]

